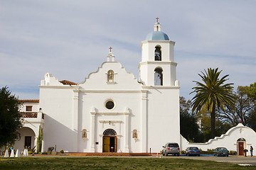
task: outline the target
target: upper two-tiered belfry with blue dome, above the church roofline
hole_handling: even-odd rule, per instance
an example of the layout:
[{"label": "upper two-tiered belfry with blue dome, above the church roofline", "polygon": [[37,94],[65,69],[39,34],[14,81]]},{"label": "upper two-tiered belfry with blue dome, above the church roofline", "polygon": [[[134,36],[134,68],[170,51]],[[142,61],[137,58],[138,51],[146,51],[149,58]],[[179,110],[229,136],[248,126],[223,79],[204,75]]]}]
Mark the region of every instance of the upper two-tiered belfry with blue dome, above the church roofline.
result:
[{"label": "upper two-tiered belfry with blue dome, above the church roofline", "polygon": [[141,42],[142,61],[139,62],[139,78],[144,86],[178,86],[174,62],[175,42],[161,32],[161,24],[154,24],[154,31]]}]

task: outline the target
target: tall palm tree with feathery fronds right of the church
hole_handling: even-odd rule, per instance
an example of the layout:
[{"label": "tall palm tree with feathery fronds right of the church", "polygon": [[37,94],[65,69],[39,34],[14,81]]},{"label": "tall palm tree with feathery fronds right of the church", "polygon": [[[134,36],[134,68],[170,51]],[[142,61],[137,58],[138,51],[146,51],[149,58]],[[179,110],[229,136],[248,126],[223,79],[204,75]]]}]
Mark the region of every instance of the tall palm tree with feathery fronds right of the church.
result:
[{"label": "tall palm tree with feathery fronds right of the church", "polygon": [[235,96],[233,95],[233,85],[225,84],[228,75],[219,78],[220,72],[217,69],[206,69],[205,73],[198,74],[203,83],[199,81],[193,81],[197,84],[193,87],[191,94],[196,93],[196,96],[192,98],[192,111],[198,113],[202,108],[208,109],[210,111],[210,136],[215,137],[215,109],[222,108],[225,110],[225,106],[228,108],[235,107]]}]

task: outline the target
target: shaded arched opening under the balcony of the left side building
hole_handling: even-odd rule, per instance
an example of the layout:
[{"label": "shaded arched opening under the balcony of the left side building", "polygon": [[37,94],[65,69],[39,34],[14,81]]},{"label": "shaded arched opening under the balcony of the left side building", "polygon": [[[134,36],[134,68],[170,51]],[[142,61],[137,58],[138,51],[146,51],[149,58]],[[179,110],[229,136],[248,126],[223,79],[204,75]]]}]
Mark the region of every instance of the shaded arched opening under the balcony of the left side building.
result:
[{"label": "shaded arched opening under the balcony of the left side building", "polygon": [[28,149],[33,149],[36,146],[35,144],[35,137],[36,134],[33,132],[31,128],[23,127],[18,130],[19,139],[15,142],[15,149],[23,150],[24,147]]}]

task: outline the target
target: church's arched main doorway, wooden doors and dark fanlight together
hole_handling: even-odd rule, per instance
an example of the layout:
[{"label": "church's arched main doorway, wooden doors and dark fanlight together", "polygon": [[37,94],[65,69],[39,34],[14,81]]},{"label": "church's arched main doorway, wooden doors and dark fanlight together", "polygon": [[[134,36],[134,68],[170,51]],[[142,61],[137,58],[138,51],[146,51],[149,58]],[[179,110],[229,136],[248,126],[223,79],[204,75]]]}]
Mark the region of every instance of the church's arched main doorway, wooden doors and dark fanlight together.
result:
[{"label": "church's arched main doorway, wooden doors and dark fanlight together", "polygon": [[107,129],[103,132],[102,152],[117,152],[117,132]]}]

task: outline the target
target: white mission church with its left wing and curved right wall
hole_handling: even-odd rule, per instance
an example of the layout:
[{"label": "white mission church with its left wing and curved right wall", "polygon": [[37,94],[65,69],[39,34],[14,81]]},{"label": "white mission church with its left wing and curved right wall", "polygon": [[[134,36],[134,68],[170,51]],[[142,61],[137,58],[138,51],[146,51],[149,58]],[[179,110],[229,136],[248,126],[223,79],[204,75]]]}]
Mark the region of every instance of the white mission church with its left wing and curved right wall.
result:
[{"label": "white mission church with its left wing and curved right wall", "polygon": [[42,152],[55,145],[65,152],[130,153],[159,152],[166,142],[177,142],[181,149],[237,151],[252,141],[256,145],[255,132],[242,124],[204,144],[189,143],[180,135],[174,45],[156,22],[141,42],[139,80],[115,61],[111,48],[106,62],[80,84],[46,73],[39,86],[40,100],[23,100],[25,122],[15,148],[36,146],[39,126]]}]

